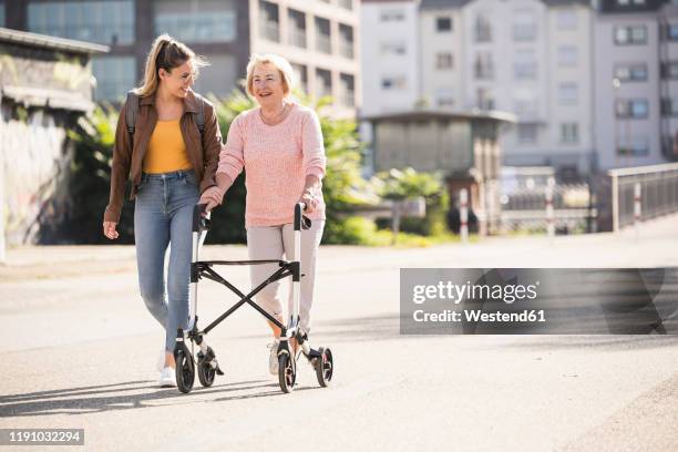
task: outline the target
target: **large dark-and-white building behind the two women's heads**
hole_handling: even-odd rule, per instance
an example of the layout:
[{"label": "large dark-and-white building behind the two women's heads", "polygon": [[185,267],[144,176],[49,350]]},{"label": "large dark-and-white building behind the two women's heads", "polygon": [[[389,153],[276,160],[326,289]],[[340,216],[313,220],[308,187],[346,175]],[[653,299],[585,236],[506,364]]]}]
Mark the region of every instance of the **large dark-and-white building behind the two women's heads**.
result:
[{"label": "large dark-and-white building behind the two women's heads", "polygon": [[123,99],[166,32],[209,61],[201,93],[228,95],[250,52],[275,52],[292,62],[300,88],[333,95],[346,114],[360,96],[359,10],[357,0],[0,0],[0,23],[109,45],[92,61],[97,101]]}]

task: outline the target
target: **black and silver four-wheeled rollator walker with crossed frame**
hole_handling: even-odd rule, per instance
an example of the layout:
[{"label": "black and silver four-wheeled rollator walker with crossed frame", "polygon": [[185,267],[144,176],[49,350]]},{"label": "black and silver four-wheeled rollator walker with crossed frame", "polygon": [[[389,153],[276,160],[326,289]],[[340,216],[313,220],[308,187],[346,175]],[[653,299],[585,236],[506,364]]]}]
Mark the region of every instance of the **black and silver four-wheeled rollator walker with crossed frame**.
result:
[{"label": "black and silver four-wheeled rollator walker with crossed frame", "polygon": [[[194,359],[194,345],[197,345],[199,350],[197,358],[197,374],[203,387],[208,388],[214,384],[216,376],[223,376],[224,372],[219,368],[216,355],[212,347],[207,345],[206,336],[213,328],[219,325],[224,319],[235,312],[239,307],[247,304],[255,308],[261,316],[280,328],[280,342],[278,345],[278,382],[282,392],[291,392],[297,381],[297,360],[304,355],[312,364],[318,383],[321,387],[327,387],[333,372],[332,352],[327,347],[312,349],[308,341],[308,336],[299,330],[299,297],[301,277],[301,229],[310,227],[310,219],[304,216],[306,205],[298,203],[295,205],[295,237],[294,237],[294,256],[287,260],[198,260],[198,251],[205,240],[205,236],[210,228],[209,218],[205,214],[205,205],[198,204],[193,210],[193,254],[191,260],[191,317],[194,318],[193,327],[184,333],[179,328],[176,332],[176,346],[174,347],[174,359],[176,361],[176,386],[184,393],[191,392],[195,382],[196,359]],[[222,265],[261,265],[261,264],[278,264],[280,268],[270,275],[264,282],[255,287],[249,294],[245,295],[235,286],[224,279],[214,267]],[[268,314],[264,308],[258,306],[253,297],[261,289],[271,282],[279,279],[292,277],[291,294],[294,300],[292,311],[289,312],[287,326],[282,325],[278,319]],[[197,312],[197,284],[201,279],[210,279],[223,284],[235,295],[240,297],[240,300],[233,305],[226,312],[220,315],[205,329],[198,328]],[[295,338],[298,343],[298,351],[292,356],[289,340]],[[191,340],[191,349],[186,346],[186,341]]]}]

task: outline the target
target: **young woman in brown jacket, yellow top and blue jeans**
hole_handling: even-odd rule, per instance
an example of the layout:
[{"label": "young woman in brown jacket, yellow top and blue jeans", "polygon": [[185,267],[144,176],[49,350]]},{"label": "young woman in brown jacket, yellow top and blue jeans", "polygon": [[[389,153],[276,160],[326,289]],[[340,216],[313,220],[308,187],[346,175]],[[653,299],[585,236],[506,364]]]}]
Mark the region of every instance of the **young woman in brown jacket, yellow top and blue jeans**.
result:
[{"label": "young woman in brown jacket, yellow top and blue jeans", "polygon": [[[201,194],[216,186],[222,147],[214,107],[191,90],[203,65],[205,62],[191,49],[166,34],[153,43],[144,81],[134,90],[135,95],[127,97],[117,121],[111,197],[103,222],[104,235],[117,238],[125,183],[131,177],[141,296],[165,328],[158,366],[161,387],[175,384],[176,330],[189,328],[193,209]],[[126,122],[130,102],[138,102],[133,106],[136,111],[133,136]],[[196,123],[201,122],[198,117],[204,119],[203,131]]]}]

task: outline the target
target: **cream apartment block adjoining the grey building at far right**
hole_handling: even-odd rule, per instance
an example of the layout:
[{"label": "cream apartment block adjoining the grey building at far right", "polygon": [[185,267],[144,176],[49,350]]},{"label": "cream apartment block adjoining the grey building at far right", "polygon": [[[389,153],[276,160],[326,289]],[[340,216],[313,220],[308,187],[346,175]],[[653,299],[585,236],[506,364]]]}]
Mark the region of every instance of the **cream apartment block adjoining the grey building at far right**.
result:
[{"label": "cream apartment block adjoining the grey building at far right", "polygon": [[585,1],[423,0],[422,96],[442,109],[516,114],[502,137],[506,165],[587,173],[592,17]]}]

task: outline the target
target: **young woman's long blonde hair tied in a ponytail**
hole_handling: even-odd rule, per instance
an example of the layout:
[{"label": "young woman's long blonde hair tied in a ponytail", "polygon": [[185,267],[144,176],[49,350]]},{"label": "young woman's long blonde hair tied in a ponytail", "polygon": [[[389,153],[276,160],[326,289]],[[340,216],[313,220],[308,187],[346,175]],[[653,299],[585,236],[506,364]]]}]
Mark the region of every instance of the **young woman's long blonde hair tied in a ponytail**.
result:
[{"label": "young woman's long blonde hair tied in a ponytail", "polygon": [[178,68],[186,61],[192,61],[197,76],[199,68],[206,66],[209,63],[201,56],[196,55],[188,45],[175,40],[170,34],[161,34],[155,38],[151,52],[146,58],[146,70],[144,71],[144,80],[141,86],[134,90],[135,94],[141,97],[155,94],[160,84],[157,71],[164,69],[170,72],[174,68]]}]

